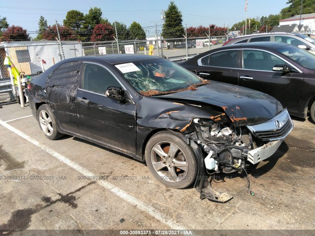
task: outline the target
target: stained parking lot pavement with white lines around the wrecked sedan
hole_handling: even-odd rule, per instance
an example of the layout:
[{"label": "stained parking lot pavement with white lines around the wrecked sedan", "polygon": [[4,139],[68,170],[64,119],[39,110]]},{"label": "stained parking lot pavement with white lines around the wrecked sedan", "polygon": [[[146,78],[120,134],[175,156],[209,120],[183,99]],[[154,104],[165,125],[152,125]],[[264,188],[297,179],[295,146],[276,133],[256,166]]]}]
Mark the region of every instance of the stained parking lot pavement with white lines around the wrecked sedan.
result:
[{"label": "stained parking lot pavement with white lines around the wrecked sedan", "polygon": [[200,200],[192,187],[162,185],[144,163],[119,152],[71,136],[48,140],[28,104],[3,105],[0,235],[38,229],[119,230],[118,235],[149,229],[227,230],[224,235],[302,230],[300,235],[314,235],[315,124],[298,118],[293,123],[279,150],[249,170],[254,196],[244,174],[214,177],[213,187],[234,197],[218,204]]}]

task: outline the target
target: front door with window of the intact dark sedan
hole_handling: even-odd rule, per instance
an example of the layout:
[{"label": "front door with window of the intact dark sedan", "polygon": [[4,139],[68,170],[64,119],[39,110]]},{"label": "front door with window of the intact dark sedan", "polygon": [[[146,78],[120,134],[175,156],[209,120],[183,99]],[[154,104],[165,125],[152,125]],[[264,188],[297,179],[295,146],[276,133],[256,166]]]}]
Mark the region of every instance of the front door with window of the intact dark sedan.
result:
[{"label": "front door with window of the intact dark sedan", "polygon": [[[242,50],[239,85],[262,91],[277,98],[290,111],[297,111],[301,101],[304,74],[288,61],[264,51]],[[273,66],[286,64],[295,72],[275,72]]]}]

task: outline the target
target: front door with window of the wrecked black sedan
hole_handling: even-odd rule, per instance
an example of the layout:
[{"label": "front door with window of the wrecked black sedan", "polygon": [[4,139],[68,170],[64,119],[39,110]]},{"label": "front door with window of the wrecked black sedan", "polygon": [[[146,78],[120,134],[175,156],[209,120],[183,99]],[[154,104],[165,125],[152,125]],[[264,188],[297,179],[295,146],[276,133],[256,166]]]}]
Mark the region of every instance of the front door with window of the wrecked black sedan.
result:
[{"label": "front door with window of the wrecked black sedan", "polygon": [[75,99],[80,135],[105,146],[135,154],[135,104],[108,98],[104,94],[108,87],[123,88],[108,68],[85,63],[82,83]]}]

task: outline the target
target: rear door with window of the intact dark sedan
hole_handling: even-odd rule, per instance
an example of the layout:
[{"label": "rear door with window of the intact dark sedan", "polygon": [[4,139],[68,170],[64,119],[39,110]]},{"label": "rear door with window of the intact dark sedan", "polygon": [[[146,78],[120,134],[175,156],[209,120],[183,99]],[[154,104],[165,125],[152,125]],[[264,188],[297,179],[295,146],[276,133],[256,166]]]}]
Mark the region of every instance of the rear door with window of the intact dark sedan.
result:
[{"label": "rear door with window of the intact dark sedan", "polygon": [[238,84],[239,50],[222,50],[198,59],[197,75],[207,80]]}]

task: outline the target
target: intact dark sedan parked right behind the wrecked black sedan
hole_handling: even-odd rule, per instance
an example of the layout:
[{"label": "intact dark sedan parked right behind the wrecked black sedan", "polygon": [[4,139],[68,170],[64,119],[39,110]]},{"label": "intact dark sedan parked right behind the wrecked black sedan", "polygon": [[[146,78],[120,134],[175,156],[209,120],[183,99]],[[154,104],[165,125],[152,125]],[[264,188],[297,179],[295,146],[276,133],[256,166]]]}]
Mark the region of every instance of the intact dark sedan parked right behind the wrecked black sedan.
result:
[{"label": "intact dark sedan parked right behind the wrecked black sedan", "polygon": [[201,78],[255,89],[277,98],[288,112],[315,122],[315,55],[285,43],[224,46],[180,62]]}]

